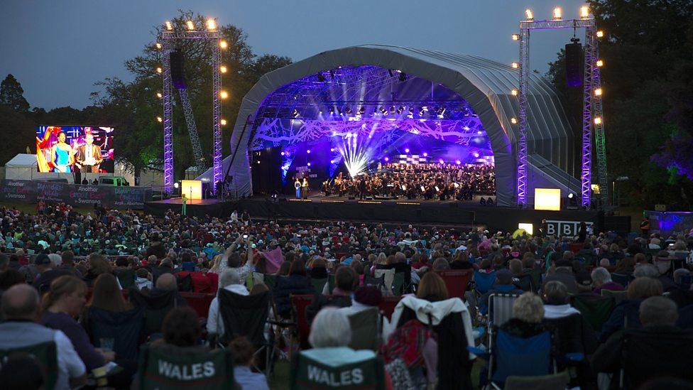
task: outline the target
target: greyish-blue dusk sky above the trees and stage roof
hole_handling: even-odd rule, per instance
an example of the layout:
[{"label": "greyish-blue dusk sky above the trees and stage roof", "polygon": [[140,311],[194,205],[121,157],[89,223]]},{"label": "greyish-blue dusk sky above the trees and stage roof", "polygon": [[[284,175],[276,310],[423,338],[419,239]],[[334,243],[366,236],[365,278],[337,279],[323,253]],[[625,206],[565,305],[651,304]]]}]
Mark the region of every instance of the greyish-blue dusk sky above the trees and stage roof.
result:
[{"label": "greyish-blue dusk sky above the trees and stage roof", "polygon": [[[548,18],[562,6],[577,17],[582,1],[546,0],[0,0],[0,77],[13,74],[31,107],[90,104],[94,82],[131,80],[124,61],[155,40],[153,26],[191,9],[234,24],[253,53],[302,60],[324,50],[378,43],[466,53],[511,63],[525,8]],[[578,36],[584,31],[578,31]],[[531,41],[531,67],[547,63],[572,31],[542,31]]]}]

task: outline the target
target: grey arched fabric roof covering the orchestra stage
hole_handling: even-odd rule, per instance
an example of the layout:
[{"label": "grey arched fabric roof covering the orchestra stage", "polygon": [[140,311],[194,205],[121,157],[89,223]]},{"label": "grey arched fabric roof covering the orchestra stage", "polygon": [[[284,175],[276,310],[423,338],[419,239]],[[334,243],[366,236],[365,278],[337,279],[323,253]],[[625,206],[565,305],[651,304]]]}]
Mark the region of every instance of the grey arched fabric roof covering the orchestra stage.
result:
[{"label": "grey arched fabric roof covering the orchestra stage", "polygon": [[[516,140],[518,125],[517,97],[519,72],[509,65],[474,55],[442,53],[434,50],[390,45],[361,45],[319,53],[305,60],[263,75],[246,94],[231,134],[232,155],[224,159],[224,170],[233,176],[232,187],[239,195],[252,194],[249,145],[255,134],[254,116],[263,100],[275,90],[295,80],[339,66],[375,65],[401,70],[407,75],[440,83],[469,102],[479,115],[491,141],[496,163],[498,205],[515,204]],[[528,90],[528,154],[537,154],[568,175],[579,170],[575,136],[567,121],[560,98],[547,80],[530,73]],[[247,122],[247,124],[246,124]],[[236,153],[236,158],[232,158]],[[212,178],[211,170],[202,177]],[[528,193],[533,193],[530,187]]]}]

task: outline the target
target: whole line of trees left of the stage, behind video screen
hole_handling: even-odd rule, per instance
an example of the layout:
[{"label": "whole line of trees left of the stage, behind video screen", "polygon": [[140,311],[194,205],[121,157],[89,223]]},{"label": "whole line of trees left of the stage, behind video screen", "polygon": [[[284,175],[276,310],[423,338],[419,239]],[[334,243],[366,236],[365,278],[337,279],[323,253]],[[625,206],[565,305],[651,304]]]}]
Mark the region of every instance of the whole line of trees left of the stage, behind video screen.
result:
[{"label": "whole line of trees left of the stage, behind video screen", "polygon": [[[205,18],[192,11],[179,11],[171,22],[184,29],[186,21],[205,26]],[[162,26],[153,28],[153,36],[160,36]],[[247,34],[232,25],[219,26],[227,48],[222,50],[222,88],[229,98],[222,100],[222,116],[227,126],[222,129],[224,156],[229,154],[231,130],[239,112],[241,99],[266,72],[289,65],[291,59],[278,55],[256,55],[247,43]],[[201,40],[185,40],[177,43],[185,53],[185,75],[200,143],[208,165],[212,161],[212,47]],[[162,92],[161,75],[156,68],[162,64],[162,53],[156,41],[143,48],[135,58],[126,60],[126,70],[133,75],[132,81],[118,77],[106,77],[94,83],[99,92],[92,92],[92,105],[84,109],[60,107],[46,111],[40,107],[30,109],[23,97],[18,80],[8,75],[0,86],[0,165],[4,165],[16,153],[36,152],[35,127],[41,124],[84,124],[114,126],[115,158],[129,170],[138,173],[142,168],[160,168],[163,163],[163,126],[156,117],[163,117],[163,101],[157,96]],[[174,92],[176,92],[174,90]],[[194,166],[190,137],[185,126],[178,93],[173,107],[175,175]]]}]

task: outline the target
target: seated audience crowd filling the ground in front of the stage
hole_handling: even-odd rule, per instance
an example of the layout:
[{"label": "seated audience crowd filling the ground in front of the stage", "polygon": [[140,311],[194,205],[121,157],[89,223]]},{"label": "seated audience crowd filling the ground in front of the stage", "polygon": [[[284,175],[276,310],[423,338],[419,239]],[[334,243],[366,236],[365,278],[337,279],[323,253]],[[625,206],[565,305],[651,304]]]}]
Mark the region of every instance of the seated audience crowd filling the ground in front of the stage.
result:
[{"label": "seated audience crowd filling the ground in front of the stage", "polygon": [[[280,359],[290,381],[326,388],[502,387],[553,367],[584,389],[693,386],[693,229],[581,242],[67,205],[0,217],[8,388],[266,389]],[[530,363],[540,340],[545,367]],[[520,350],[503,355],[512,342]]]}]

